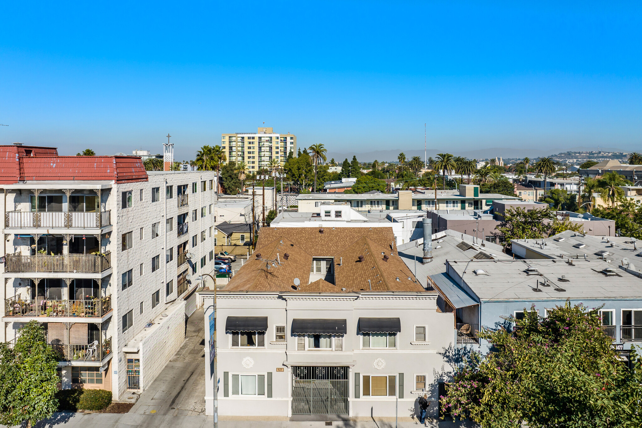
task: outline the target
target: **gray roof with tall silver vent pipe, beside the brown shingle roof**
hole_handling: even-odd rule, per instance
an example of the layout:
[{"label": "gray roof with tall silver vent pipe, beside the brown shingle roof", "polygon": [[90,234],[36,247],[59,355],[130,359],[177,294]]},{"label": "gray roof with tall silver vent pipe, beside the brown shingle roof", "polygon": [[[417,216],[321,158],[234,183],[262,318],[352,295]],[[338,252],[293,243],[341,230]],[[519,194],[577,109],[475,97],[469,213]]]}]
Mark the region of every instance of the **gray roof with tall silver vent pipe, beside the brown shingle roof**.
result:
[{"label": "gray roof with tall silver vent pipe, beside the brown shingle roof", "polygon": [[[462,243],[462,241],[471,244],[471,248],[462,250],[462,248],[458,247],[457,245]],[[482,246],[482,243],[484,246]],[[424,286],[424,288],[426,287],[426,277],[428,275],[432,277],[433,275],[446,272],[447,259],[473,259],[473,257],[480,252],[490,255],[493,259],[511,259],[502,252],[503,247],[501,245],[480,241],[474,239],[471,235],[465,235],[447,229],[444,232],[433,235],[433,261],[422,264],[421,261],[424,256],[423,244],[424,239],[421,238],[416,241],[398,245],[397,250],[399,251],[401,260],[403,260],[406,266],[408,266],[408,269],[415,274],[415,278],[419,280],[419,283]]]}]

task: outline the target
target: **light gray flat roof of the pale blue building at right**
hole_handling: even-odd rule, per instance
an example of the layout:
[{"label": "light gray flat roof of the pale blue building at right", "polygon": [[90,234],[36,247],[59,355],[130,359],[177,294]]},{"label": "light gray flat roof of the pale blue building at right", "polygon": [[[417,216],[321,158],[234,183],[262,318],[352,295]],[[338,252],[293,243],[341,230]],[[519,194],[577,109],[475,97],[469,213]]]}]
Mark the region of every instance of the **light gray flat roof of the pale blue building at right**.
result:
[{"label": "light gray flat roof of the pale blue building at right", "polygon": [[[529,275],[529,267],[537,272]],[[612,268],[609,275],[603,273],[605,268]],[[550,259],[448,261],[448,273],[455,282],[460,282],[463,275],[462,288],[480,300],[642,298],[642,278],[627,273],[617,263],[602,260],[580,259],[573,264]],[[538,280],[541,291],[534,290]],[[542,286],[544,280],[549,286]]]}]

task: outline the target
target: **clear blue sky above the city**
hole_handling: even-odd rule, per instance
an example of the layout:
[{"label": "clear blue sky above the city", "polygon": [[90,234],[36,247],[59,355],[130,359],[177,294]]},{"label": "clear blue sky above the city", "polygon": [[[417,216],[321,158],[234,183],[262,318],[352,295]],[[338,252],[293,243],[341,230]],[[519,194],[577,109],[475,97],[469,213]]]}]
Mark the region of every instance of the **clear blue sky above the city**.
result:
[{"label": "clear blue sky above the city", "polygon": [[[519,3],[519,4],[516,4]],[[641,150],[627,2],[5,1],[0,144],[178,160],[265,121],[331,151]]]}]

